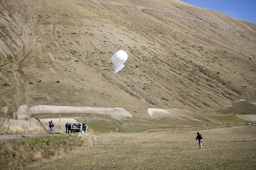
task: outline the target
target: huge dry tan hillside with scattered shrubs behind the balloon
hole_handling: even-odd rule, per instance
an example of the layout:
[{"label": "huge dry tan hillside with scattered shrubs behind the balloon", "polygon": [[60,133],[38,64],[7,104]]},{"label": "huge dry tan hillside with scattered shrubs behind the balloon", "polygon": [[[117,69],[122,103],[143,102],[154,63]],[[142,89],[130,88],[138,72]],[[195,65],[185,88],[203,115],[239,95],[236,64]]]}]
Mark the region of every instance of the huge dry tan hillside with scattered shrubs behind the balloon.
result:
[{"label": "huge dry tan hillside with scattered shrubs behind the balloon", "polygon": [[[0,105],[216,111],[255,100],[255,24],[178,0],[2,0]],[[111,56],[128,53],[113,74]],[[40,81],[41,80],[41,81]],[[59,81],[59,83],[56,83]]]}]

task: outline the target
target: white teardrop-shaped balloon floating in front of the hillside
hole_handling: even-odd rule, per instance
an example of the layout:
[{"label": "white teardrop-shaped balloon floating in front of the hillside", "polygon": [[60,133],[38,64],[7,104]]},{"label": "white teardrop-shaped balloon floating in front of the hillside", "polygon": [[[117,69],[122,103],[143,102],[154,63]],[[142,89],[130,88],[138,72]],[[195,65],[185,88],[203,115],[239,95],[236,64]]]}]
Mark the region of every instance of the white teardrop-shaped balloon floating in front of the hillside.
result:
[{"label": "white teardrop-shaped balloon floating in front of the hillside", "polygon": [[126,62],[128,55],[125,51],[119,50],[112,55],[111,61],[114,64],[114,74],[118,71],[122,70],[124,66],[124,62]]}]

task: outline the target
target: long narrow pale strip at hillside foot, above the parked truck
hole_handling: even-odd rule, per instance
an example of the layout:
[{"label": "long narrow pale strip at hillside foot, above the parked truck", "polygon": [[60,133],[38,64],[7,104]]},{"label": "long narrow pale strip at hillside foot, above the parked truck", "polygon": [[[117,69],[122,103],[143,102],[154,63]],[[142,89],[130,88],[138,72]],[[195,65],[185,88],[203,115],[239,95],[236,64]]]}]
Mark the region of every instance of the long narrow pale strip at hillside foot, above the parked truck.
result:
[{"label": "long narrow pale strip at hillside foot, above the parked truck", "polygon": [[109,115],[115,119],[132,118],[133,115],[124,108],[119,107],[72,107],[72,106],[48,106],[37,105],[28,107],[28,105],[19,106],[16,112],[17,119],[24,120],[30,115],[36,114],[98,114]]}]

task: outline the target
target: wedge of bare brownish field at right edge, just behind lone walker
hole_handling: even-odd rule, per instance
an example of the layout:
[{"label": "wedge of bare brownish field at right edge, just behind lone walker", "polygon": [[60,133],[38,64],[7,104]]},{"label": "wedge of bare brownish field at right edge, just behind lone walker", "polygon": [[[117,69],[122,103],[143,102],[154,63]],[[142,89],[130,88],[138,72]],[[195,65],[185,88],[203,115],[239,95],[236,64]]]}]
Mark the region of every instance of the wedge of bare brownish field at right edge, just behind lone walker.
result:
[{"label": "wedge of bare brownish field at right edge, just behind lone walker", "polygon": [[[197,131],[186,132],[186,133],[195,133]],[[207,129],[207,130],[200,130],[200,134],[209,134],[209,133],[218,133],[218,134],[256,134],[256,126],[237,126],[232,128],[217,128],[217,129]],[[204,137],[204,136],[203,136]],[[242,139],[241,139],[242,140]]]}]

